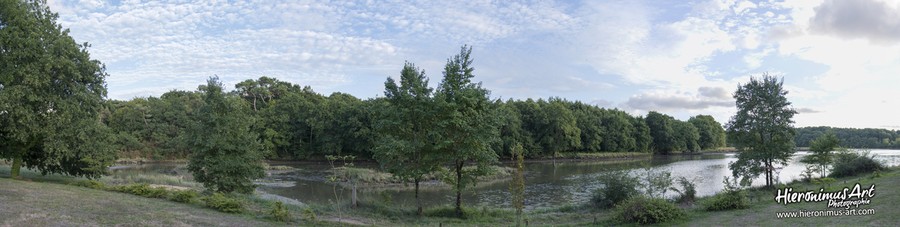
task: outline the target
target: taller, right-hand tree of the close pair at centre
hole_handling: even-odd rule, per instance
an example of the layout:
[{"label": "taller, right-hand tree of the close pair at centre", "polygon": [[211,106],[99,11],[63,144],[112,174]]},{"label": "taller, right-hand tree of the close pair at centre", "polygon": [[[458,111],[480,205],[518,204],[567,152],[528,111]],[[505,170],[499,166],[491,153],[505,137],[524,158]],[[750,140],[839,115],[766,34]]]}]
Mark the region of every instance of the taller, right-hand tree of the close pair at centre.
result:
[{"label": "taller, right-hand tree of the close pair at centre", "polygon": [[[447,59],[444,79],[435,94],[440,114],[435,130],[435,149],[450,164],[456,175],[456,214],[462,217],[462,190],[475,183],[497,161],[492,143],[497,138],[495,110],[481,83],[472,82],[472,48],[463,46],[460,53]],[[474,169],[464,169],[468,164]]]}]

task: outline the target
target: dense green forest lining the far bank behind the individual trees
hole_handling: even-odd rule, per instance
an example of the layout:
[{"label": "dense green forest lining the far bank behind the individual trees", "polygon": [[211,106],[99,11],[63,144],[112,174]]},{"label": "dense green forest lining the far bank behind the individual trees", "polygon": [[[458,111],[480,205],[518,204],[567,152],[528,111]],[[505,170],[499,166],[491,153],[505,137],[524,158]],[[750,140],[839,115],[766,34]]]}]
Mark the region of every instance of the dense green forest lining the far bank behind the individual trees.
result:
[{"label": "dense green forest lining the far bank behind the individual trees", "polygon": [[[160,97],[107,102],[102,120],[115,133],[119,157],[187,157],[192,146],[185,133],[196,123],[201,95],[175,90]],[[256,119],[252,130],[260,136],[267,158],[280,160],[325,155],[371,159],[376,119],[386,112],[384,108],[396,108],[383,97],[325,96],[309,86],[270,77],[237,83],[228,95],[250,107],[249,114]],[[681,121],[651,112],[645,118],[560,98],[492,100],[491,106],[500,134],[492,147],[501,156],[508,156],[515,144],[521,144],[528,157],[565,152],[692,152],[725,145],[721,124],[707,115]]]}]

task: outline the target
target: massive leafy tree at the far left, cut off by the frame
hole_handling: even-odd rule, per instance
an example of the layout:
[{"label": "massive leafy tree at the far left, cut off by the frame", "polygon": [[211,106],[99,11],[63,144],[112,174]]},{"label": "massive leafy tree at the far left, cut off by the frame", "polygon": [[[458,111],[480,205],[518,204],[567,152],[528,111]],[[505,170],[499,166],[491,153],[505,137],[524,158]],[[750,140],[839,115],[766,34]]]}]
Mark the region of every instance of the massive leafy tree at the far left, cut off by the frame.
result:
[{"label": "massive leafy tree at the far left, cut off by the frame", "polygon": [[13,178],[22,166],[95,178],[115,160],[105,66],[57,18],[44,1],[0,1],[0,158]]}]

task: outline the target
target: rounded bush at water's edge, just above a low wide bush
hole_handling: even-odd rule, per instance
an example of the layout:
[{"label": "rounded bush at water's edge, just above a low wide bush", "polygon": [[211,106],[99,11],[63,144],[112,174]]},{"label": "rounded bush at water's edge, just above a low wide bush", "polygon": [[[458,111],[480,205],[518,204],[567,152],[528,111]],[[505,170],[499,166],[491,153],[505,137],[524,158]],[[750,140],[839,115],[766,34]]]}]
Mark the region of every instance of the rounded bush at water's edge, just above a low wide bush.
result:
[{"label": "rounded bush at water's edge, just above a low wide bush", "polygon": [[640,194],[640,181],[625,171],[608,172],[600,176],[604,187],[594,191],[591,203],[598,208],[612,208],[619,202]]}]

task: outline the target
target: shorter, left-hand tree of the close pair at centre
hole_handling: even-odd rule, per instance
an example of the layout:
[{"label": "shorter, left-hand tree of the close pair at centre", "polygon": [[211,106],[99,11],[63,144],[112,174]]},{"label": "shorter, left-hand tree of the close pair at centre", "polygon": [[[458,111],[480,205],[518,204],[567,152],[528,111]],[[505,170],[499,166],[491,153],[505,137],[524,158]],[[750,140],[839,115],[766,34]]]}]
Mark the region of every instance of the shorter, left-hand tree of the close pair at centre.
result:
[{"label": "shorter, left-hand tree of the close pair at centre", "polygon": [[379,109],[375,160],[388,172],[415,184],[417,213],[422,215],[419,183],[440,167],[434,151],[435,110],[432,88],[425,71],[406,63],[400,71],[400,86],[388,77],[384,82],[384,105]]}]

